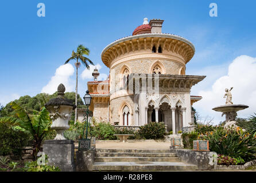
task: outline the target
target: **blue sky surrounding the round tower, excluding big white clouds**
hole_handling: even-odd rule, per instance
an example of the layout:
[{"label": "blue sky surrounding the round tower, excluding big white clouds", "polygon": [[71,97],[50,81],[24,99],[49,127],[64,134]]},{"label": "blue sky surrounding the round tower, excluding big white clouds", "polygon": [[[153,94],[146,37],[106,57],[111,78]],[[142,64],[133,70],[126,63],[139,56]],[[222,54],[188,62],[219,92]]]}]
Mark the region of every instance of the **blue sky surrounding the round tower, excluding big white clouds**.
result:
[{"label": "blue sky surrounding the round tower, excluding big white clouds", "polygon": [[[45,17],[37,17],[40,2],[45,4]],[[212,2],[218,5],[218,17],[209,15]],[[131,35],[145,17],[164,19],[163,33],[180,35],[195,45],[196,54],[187,64],[186,74],[207,75],[207,79],[192,94],[211,90],[216,79],[228,74],[235,58],[256,57],[255,6],[255,1],[217,0],[2,1],[0,103],[40,93],[80,43],[91,50],[89,57],[102,67],[100,73],[108,74],[101,51]],[[83,70],[80,67],[79,74]],[[75,73],[68,79],[74,84]],[[89,80],[79,77],[80,95]]]}]

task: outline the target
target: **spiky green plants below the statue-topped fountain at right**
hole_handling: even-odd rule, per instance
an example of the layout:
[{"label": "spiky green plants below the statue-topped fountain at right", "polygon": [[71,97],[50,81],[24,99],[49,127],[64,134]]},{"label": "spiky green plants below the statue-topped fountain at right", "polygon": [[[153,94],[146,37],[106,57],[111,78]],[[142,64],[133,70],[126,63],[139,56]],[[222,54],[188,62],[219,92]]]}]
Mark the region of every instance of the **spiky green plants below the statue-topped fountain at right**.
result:
[{"label": "spiky green plants below the statue-topped fountain at right", "polygon": [[255,158],[256,154],[256,133],[243,132],[242,128],[224,129],[215,128],[208,132],[201,139],[208,140],[210,150],[218,154],[234,158],[241,157],[245,161]]}]

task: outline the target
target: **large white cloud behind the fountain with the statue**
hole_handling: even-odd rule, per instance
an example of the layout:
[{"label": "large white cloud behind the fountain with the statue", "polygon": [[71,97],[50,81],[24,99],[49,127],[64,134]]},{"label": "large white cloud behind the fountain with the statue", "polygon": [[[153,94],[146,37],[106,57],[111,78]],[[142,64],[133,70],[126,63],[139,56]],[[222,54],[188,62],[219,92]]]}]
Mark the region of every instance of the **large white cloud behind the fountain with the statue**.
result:
[{"label": "large white cloud behind the fountain with the statue", "polygon": [[201,116],[214,117],[214,123],[219,124],[224,121],[221,113],[215,112],[212,108],[224,105],[226,99],[223,98],[225,88],[232,89],[232,102],[234,104],[248,105],[249,108],[239,111],[238,117],[247,118],[256,112],[256,58],[241,55],[232,61],[228,66],[227,75],[216,79],[210,90],[200,90],[199,96],[203,99],[193,106]]}]

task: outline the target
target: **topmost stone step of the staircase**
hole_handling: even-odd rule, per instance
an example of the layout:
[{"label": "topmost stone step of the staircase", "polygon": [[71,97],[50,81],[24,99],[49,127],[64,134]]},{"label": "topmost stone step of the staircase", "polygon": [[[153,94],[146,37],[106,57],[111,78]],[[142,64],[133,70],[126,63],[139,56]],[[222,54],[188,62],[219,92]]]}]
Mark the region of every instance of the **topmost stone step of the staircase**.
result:
[{"label": "topmost stone step of the staircase", "polygon": [[98,153],[171,153],[170,149],[96,149]]}]

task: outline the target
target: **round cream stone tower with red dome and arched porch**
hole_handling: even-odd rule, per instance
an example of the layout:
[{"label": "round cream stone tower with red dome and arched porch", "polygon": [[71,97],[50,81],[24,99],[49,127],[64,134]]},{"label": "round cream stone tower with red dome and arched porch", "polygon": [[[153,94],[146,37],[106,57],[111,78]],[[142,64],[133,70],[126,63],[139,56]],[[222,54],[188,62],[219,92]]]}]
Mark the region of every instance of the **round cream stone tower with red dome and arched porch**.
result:
[{"label": "round cream stone tower with red dome and arched porch", "polygon": [[140,126],[164,122],[173,134],[193,126],[193,85],[205,76],[185,75],[195,54],[187,39],[162,33],[164,20],[148,18],[133,35],[118,39],[102,51],[110,68],[110,122]]}]

